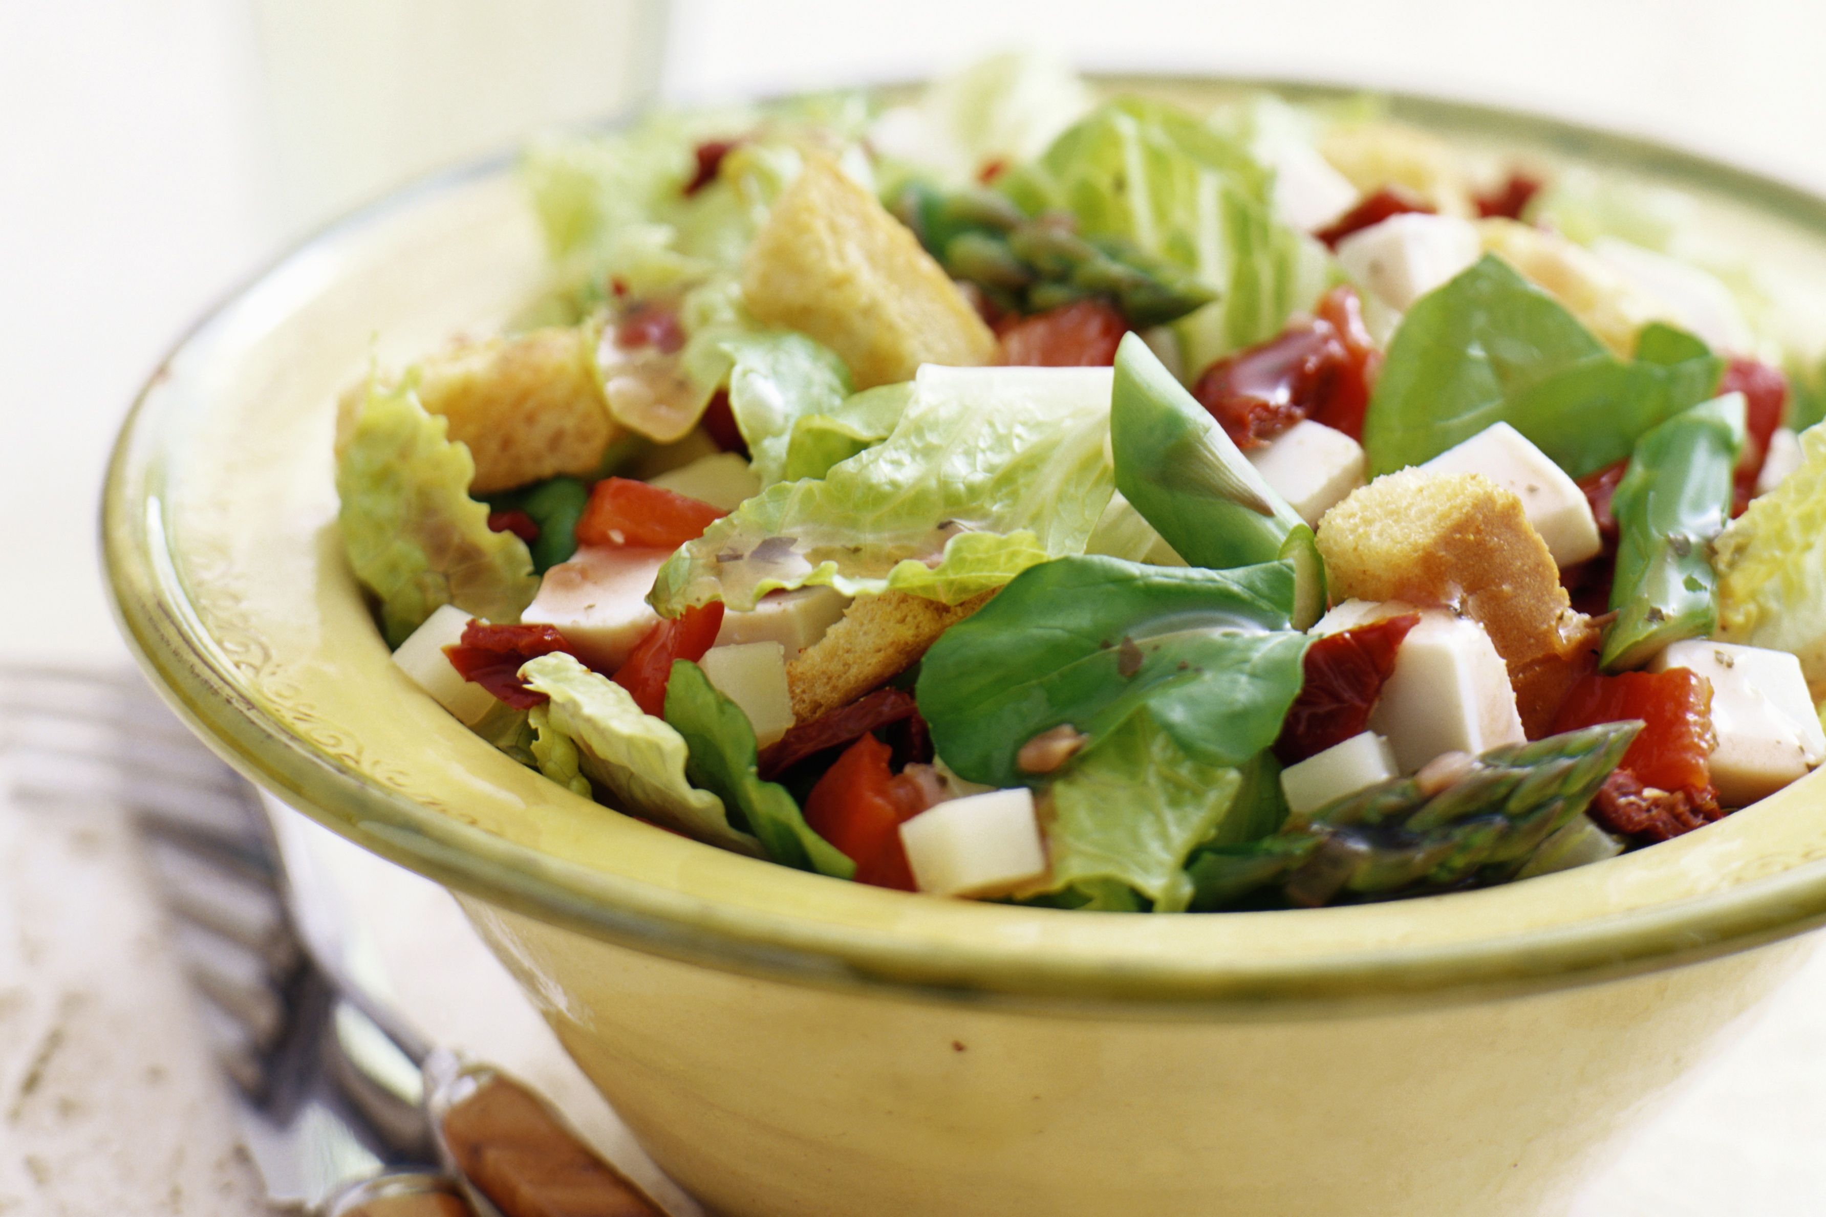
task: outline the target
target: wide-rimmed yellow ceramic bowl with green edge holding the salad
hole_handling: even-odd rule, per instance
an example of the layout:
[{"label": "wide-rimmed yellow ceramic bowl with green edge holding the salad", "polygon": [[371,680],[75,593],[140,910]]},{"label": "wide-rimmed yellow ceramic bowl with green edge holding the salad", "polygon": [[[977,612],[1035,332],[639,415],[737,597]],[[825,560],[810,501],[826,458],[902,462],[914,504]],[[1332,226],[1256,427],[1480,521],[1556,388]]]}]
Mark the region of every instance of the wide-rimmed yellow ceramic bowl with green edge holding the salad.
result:
[{"label": "wide-rimmed yellow ceramic bowl with green edge holding the salad", "polygon": [[[1722,239],[1826,283],[1819,199],[1556,122],[1393,106],[1477,151],[1676,186]],[[1821,777],[1492,890],[1161,918],[840,883],[579,799],[387,661],[334,522],[336,392],[371,354],[497,325],[539,276],[506,164],[279,261],[141,396],[108,573],[190,723],[460,892],[654,1157],[725,1213],[1552,1210],[1826,918]]]}]

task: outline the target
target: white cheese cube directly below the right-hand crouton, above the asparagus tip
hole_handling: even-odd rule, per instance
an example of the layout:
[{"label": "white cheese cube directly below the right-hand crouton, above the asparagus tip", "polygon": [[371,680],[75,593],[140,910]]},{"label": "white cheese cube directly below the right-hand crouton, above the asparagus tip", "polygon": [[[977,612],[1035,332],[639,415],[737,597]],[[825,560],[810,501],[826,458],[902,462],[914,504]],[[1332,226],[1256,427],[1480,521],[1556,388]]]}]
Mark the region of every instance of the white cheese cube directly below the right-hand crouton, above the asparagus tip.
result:
[{"label": "white cheese cube directly below the right-hand crouton, above the asparagus tip", "polygon": [[1446,609],[1424,609],[1402,639],[1370,730],[1388,737],[1404,774],[1441,752],[1475,755],[1527,741],[1508,666],[1490,635]]}]

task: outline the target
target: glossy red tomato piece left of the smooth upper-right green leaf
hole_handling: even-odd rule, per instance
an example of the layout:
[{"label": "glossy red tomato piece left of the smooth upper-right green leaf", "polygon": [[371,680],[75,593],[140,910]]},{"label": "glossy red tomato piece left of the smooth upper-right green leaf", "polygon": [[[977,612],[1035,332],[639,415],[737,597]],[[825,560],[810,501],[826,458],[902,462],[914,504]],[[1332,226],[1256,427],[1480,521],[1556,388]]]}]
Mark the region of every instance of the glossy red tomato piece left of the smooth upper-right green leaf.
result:
[{"label": "glossy red tomato piece left of the smooth upper-right green leaf", "polygon": [[1240,449],[1262,447],[1302,418],[1360,436],[1379,365],[1357,294],[1329,292],[1311,321],[1218,359],[1192,396]]}]

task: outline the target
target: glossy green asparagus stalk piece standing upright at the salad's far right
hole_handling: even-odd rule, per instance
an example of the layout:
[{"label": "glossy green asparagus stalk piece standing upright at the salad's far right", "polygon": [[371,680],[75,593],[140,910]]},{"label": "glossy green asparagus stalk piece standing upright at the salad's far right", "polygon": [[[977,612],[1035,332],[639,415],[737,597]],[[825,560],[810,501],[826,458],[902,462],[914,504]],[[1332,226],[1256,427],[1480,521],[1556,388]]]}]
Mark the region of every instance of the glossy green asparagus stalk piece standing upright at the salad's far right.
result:
[{"label": "glossy green asparagus stalk piece standing upright at the salad's far right", "polygon": [[1731,518],[1744,451],[1744,394],[1702,401],[1636,440],[1616,487],[1620,529],[1603,642],[1605,671],[1640,668],[1669,642],[1718,626],[1711,542]]}]

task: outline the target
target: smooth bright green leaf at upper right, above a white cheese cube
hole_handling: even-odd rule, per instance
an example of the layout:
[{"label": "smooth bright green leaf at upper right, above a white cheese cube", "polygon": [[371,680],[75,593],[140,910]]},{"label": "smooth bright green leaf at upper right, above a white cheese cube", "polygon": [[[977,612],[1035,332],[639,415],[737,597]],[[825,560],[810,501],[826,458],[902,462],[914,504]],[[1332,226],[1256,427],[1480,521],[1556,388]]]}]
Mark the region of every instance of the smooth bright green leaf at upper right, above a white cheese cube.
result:
[{"label": "smooth bright green leaf at upper right, above a white cheese cube", "polygon": [[1629,456],[1651,427],[1713,396],[1724,363],[1649,325],[1616,359],[1495,255],[1415,301],[1364,420],[1370,474],[1419,465],[1506,421],[1574,478]]}]

